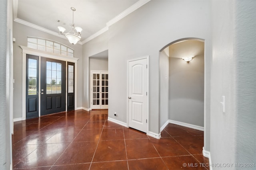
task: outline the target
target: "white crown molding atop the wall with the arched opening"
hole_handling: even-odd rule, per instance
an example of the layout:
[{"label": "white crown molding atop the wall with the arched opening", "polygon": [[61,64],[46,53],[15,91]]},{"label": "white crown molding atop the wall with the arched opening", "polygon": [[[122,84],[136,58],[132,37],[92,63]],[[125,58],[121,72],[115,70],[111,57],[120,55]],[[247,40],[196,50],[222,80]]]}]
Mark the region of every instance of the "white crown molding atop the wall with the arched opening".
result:
[{"label": "white crown molding atop the wall with the arched opening", "polygon": [[132,6],[130,6],[126,10],[124,10],[122,13],[120,13],[118,16],[116,16],[112,20],[108,21],[106,23],[107,27],[113,25],[114,23],[116,23],[117,21],[121,20],[122,18],[128,16],[129,14],[131,14],[132,12],[134,12],[135,10],[137,10],[138,8],[143,6],[144,4],[148,3],[149,1],[150,0],[139,0],[138,2],[133,4]]}]

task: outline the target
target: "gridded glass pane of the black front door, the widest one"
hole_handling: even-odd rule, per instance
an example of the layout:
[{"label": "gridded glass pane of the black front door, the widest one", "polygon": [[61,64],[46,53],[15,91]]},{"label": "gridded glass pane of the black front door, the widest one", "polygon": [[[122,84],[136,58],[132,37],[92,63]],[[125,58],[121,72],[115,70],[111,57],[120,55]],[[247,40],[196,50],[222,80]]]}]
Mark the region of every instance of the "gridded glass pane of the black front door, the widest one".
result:
[{"label": "gridded glass pane of the black front door, the widest one", "polygon": [[[56,71],[56,70],[59,71]],[[46,61],[46,94],[61,93],[61,63]]]}]

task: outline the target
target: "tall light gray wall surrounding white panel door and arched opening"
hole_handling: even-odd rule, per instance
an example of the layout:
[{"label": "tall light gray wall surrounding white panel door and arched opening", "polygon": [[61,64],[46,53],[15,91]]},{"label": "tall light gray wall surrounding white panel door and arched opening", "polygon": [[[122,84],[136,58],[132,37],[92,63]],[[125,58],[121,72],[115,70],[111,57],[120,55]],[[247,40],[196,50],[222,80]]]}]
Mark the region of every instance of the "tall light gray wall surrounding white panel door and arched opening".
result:
[{"label": "tall light gray wall surrounding white panel door and arched opening", "polygon": [[[127,122],[126,63],[128,59],[149,55],[149,131],[160,133],[159,51],[181,38],[205,39],[206,63],[210,68],[209,5],[205,0],[151,0],[109,28],[109,117]],[[210,90],[209,72],[207,90]],[[208,107],[206,110],[210,114]],[[118,117],[114,117],[114,112]]]}]

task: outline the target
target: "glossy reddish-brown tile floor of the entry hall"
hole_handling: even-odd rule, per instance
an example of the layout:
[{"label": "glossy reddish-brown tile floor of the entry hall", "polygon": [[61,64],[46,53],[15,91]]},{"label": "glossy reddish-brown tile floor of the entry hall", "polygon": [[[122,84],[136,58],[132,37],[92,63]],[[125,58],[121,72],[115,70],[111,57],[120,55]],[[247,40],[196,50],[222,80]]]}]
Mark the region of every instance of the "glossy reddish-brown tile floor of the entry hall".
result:
[{"label": "glossy reddish-brown tile floor of the entry hall", "polygon": [[13,169],[208,169],[202,131],[169,123],[154,139],[107,117],[107,110],[77,110],[14,122]]}]

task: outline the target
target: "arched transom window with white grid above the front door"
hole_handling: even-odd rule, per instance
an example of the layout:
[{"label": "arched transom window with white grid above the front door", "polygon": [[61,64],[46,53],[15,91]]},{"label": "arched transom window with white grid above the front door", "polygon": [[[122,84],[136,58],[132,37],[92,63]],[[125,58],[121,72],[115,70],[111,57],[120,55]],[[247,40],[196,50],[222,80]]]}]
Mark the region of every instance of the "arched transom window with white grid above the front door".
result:
[{"label": "arched transom window with white grid above the front door", "polygon": [[65,45],[47,39],[28,37],[28,47],[58,55],[74,57],[73,49],[70,49]]}]

